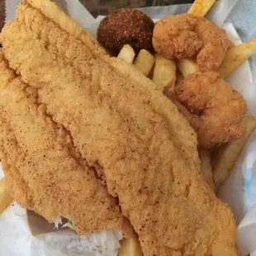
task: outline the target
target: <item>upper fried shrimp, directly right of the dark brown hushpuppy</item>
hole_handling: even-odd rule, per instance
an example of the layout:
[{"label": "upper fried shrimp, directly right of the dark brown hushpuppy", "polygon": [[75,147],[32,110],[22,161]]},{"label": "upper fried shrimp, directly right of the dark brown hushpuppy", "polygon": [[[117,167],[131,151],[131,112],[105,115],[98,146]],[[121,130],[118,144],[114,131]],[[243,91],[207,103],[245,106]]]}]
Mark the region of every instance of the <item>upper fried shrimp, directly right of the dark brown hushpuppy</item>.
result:
[{"label": "upper fried shrimp, directly right of the dark brown hushpuppy", "polygon": [[217,71],[233,44],[225,31],[192,14],[164,17],[154,26],[154,50],[167,59],[196,58],[202,71]]}]

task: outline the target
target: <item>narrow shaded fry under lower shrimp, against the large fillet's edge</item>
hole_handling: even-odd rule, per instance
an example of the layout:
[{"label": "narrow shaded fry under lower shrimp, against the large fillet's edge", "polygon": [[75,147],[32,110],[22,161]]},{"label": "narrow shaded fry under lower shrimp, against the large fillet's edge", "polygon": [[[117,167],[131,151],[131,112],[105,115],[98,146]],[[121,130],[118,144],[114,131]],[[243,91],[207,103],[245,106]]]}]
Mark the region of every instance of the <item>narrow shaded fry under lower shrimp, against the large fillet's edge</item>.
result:
[{"label": "narrow shaded fry under lower shrimp, against the large fillet's edge", "polygon": [[211,154],[209,150],[201,149],[199,151],[201,160],[201,174],[206,179],[206,183],[214,190],[214,182],[211,168]]}]

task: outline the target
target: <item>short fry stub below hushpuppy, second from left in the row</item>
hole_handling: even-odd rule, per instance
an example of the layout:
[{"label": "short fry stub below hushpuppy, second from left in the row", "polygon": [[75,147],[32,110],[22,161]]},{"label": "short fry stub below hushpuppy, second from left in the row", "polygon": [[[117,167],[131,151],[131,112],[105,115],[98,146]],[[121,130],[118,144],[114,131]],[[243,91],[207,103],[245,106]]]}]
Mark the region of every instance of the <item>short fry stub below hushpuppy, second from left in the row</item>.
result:
[{"label": "short fry stub below hushpuppy, second from left in the row", "polygon": [[147,50],[140,50],[139,55],[135,59],[135,68],[139,69],[146,77],[154,65],[154,56]]}]

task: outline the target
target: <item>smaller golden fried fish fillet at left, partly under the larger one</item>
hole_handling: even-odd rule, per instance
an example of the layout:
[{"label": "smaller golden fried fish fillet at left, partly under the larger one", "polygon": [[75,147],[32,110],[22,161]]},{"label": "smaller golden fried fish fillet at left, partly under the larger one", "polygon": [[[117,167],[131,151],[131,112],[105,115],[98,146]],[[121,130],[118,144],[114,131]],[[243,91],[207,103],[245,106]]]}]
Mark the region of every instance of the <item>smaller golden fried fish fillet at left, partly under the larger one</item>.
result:
[{"label": "smaller golden fried fish fillet at left, partly under the larger one", "polygon": [[116,200],[19,78],[0,90],[0,141],[9,190],[21,206],[51,222],[63,216],[79,234],[122,229]]}]

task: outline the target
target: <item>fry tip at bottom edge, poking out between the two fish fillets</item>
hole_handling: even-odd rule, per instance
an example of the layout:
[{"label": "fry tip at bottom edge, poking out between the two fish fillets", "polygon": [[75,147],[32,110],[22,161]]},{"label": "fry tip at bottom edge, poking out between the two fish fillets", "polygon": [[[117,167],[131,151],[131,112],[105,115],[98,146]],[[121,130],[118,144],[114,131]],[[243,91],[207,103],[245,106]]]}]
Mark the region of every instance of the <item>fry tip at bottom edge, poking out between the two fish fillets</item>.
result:
[{"label": "fry tip at bottom edge, poking out between the two fish fillets", "polygon": [[136,235],[130,239],[121,240],[121,249],[119,249],[119,256],[143,256],[140,242]]}]

